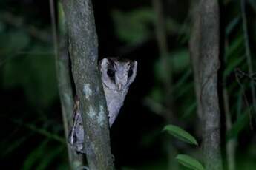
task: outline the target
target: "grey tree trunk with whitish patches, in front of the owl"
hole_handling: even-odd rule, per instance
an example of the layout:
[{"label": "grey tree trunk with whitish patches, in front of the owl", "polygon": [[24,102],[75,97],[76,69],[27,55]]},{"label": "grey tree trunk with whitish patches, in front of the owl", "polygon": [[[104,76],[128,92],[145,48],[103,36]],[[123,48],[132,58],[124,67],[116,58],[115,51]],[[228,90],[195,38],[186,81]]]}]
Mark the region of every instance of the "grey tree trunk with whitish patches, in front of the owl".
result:
[{"label": "grey tree trunk with whitish patches, in front of the owl", "polygon": [[88,166],[90,170],[114,169],[107,106],[97,65],[98,41],[91,0],[62,0],[62,4]]}]

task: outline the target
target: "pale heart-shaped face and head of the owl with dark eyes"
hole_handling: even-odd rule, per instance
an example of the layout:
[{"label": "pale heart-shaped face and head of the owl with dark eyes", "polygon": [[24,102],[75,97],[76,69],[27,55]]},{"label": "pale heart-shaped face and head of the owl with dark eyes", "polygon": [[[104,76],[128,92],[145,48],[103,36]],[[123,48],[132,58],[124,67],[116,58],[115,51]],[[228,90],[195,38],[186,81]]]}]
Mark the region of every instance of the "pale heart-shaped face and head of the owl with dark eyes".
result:
[{"label": "pale heart-shaped face and head of the owl with dark eyes", "polygon": [[137,61],[120,58],[103,58],[99,61],[102,83],[114,91],[122,91],[134,81]]}]

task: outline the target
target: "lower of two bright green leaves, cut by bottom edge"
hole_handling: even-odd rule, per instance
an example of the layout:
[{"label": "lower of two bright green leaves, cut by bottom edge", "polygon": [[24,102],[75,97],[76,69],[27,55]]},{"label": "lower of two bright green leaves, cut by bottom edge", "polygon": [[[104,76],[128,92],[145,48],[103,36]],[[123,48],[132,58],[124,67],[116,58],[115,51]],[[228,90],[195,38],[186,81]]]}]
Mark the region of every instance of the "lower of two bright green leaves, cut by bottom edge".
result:
[{"label": "lower of two bright green leaves, cut by bottom edge", "polygon": [[194,157],[190,157],[186,154],[178,154],[176,159],[180,164],[186,166],[188,169],[204,170],[202,164],[198,160],[194,159]]}]

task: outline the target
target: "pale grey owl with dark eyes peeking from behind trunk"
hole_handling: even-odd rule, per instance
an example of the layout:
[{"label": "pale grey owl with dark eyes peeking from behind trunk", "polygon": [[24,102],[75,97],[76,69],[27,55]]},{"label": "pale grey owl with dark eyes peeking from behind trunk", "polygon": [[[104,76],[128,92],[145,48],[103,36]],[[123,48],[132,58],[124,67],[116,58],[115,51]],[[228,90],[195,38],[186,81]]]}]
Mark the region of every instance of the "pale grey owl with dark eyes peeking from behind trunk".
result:
[{"label": "pale grey owl with dark eyes peeking from behind trunk", "polygon": [[[129,86],[137,75],[137,61],[123,58],[103,58],[99,61],[99,71],[108,106],[109,125],[112,126],[125,101]],[[76,152],[85,153],[83,148],[84,129],[78,98],[75,99],[73,125],[68,135],[68,143]]]}]

